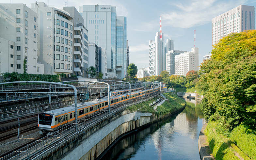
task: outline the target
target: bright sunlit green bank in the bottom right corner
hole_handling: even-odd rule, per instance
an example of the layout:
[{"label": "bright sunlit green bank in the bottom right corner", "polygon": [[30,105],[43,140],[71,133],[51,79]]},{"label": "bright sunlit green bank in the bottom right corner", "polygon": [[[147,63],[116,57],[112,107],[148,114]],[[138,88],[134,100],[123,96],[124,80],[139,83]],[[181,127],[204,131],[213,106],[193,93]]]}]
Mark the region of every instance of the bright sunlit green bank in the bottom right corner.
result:
[{"label": "bright sunlit green bank in the bottom right corner", "polygon": [[256,131],[240,124],[231,133],[218,121],[210,119],[205,129],[209,147],[216,160],[256,160]]}]

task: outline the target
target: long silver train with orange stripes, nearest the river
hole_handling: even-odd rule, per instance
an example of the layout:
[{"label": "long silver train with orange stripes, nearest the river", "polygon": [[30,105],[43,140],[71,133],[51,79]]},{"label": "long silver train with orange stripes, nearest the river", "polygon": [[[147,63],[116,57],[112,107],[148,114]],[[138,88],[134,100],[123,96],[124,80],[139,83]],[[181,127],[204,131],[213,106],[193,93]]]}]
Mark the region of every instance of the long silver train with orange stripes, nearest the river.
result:
[{"label": "long silver train with orange stripes, nearest the river", "polygon": [[[144,94],[150,94],[152,92],[159,92],[160,87],[155,87],[140,90],[142,88],[131,89],[131,100],[137,97],[144,96]],[[133,91],[133,92],[132,92]],[[113,92],[112,92],[113,93]],[[110,97],[110,107],[115,107],[116,104],[122,104],[129,101],[129,92],[117,91],[116,95]],[[95,112],[99,112],[108,108],[108,97],[104,97],[99,100],[89,101],[85,103],[77,104],[77,120],[81,120],[88,115],[92,115]],[[71,104],[67,107],[47,111],[38,115],[38,127],[40,134],[46,134],[53,132],[59,128],[75,122],[75,107]]]}]

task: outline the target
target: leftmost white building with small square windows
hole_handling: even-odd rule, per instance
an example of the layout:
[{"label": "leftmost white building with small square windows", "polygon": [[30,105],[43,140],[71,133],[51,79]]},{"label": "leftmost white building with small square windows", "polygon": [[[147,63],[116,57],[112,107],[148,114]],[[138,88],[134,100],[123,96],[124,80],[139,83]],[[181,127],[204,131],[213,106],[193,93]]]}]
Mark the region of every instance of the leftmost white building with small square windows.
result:
[{"label": "leftmost white building with small square windows", "polygon": [[0,4],[0,72],[43,74],[38,62],[38,16],[24,4]]}]

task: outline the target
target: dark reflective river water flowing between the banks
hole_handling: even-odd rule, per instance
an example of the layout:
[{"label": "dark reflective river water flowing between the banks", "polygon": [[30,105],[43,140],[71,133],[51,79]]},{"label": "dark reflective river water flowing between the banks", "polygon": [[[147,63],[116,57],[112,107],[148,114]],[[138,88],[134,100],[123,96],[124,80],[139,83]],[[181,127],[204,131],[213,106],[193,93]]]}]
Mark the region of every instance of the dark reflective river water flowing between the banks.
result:
[{"label": "dark reflective river water flowing between the banks", "polygon": [[198,137],[204,115],[200,101],[185,101],[183,111],[126,136],[102,160],[200,160]]}]

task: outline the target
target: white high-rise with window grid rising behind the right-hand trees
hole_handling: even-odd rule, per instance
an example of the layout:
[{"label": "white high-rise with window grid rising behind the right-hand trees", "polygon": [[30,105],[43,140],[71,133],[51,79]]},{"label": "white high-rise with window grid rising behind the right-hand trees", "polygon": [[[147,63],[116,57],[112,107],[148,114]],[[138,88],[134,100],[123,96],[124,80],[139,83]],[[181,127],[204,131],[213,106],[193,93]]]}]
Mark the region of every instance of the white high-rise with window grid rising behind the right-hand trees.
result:
[{"label": "white high-rise with window grid rising behind the right-hand trees", "polygon": [[255,29],[255,8],[240,5],[212,19],[212,45],[230,33]]}]

